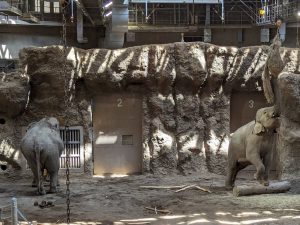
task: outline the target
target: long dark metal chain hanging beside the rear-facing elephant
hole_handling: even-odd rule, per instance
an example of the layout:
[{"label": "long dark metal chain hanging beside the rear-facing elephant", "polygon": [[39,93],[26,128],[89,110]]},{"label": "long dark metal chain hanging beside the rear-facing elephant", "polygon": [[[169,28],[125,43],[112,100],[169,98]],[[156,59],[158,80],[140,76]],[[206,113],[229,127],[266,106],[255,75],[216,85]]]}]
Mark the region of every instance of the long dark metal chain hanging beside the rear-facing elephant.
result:
[{"label": "long dark metal chain hanging beside the rear-facing elephant", "polygon": [[70,130],[69,130],[69,117],[67,109],[70,107],[70,92],[69,92],[69,79],[67,76],[67,10],[62,7],[62,44],[63,44],[63,77],[64,77],[64,103],[65,103],[65,146],[66,146],[66,203],[67,203],[67,224],[70,224]]}]

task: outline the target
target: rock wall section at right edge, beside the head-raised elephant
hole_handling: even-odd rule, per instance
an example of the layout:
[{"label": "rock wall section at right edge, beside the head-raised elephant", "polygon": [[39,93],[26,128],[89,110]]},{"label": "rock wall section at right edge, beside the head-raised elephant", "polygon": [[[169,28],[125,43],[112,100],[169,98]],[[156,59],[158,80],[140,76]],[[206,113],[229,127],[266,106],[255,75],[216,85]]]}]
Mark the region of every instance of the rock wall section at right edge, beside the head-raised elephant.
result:
[{"label": "rock wall section at right edge, beside the head-raised elephant", "polygon": [[282,177],[300,175],[300,75],[283,72],[278,77],[281,108],[279,166]]}]

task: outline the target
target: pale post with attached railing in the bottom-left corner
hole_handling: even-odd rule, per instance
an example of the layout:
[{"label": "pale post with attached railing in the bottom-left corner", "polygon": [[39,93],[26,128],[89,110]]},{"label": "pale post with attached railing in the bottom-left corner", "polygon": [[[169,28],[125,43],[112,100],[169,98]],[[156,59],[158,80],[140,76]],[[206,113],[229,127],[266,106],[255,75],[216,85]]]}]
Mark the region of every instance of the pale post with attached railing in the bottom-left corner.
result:
[{"label": "pale post with attached railing in the bottom-left corner", "polygon": [[28,225],[36,225],[36,222],[29,222],[24,214],[18,209],[17,199],[11,199],[11,205],[0,206],[0,221],[11,220],[12,225],[19,224],[19,218]]}]

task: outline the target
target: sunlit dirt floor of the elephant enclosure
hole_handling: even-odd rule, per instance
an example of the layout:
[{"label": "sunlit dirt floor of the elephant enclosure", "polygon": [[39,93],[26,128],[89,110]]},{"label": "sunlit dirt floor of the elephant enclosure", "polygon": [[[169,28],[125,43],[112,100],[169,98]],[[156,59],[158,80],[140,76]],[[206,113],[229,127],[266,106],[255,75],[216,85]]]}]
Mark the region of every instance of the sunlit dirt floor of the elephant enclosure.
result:
[{"label": "sunlit dirt floor of the elephant enclosure", "polygon": [[[247,181],[248,179],[248,181]],[[239,178],[238,184],[253,179]],[[223,188],[224,177],[139,175],[100,178],[71,176],[71,223],[80,224],[300,224],[300,179],[293,180],[288,193],[233,197]],[[60,179],[57,194],[37,196],[31,177],[0,176],[0,207],[18,200],[18,207],[30,221],[66,222],[65,180]],[[196,184],[200,190],[142,189],[142,185]],[[48,188],[48,187],[47,187]],[[40,208],[34,202],[52,201],[54,206]],[[145,209],[169,210],[170,214]]]}]

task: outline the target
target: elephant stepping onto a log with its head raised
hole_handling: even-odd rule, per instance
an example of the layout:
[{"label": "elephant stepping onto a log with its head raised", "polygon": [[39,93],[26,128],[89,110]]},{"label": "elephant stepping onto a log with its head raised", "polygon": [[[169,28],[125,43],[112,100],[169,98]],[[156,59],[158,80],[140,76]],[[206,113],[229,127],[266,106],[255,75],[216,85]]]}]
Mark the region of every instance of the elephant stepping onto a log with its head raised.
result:
[{"label": "elephant stepping onto a log with its head raised", "polygon": [[268,186],[268,176],[273,159],[276,128],[280,125],[275,108],[261,108],[256,112],[255,121],[237,129],[230,140],[228,149],[228,171],[225,186],[232,189],[237,173],[246,166],[256,167],[254,178]]}]

